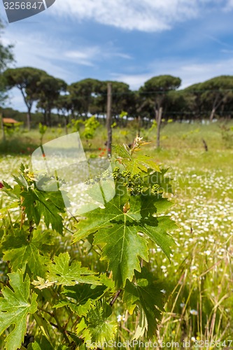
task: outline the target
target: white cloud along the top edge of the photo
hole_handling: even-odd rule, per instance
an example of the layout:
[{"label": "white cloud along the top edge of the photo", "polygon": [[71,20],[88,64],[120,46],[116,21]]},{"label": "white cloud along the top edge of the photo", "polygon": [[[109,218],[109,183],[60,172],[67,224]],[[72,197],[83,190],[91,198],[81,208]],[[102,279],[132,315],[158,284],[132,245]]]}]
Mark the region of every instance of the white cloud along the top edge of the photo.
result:
[{"label": "white cloud along the top edge of the photo", "polygon": [[208,4],[230,6],[233,0],[56,0],[50,13],[94,20],[127,30],[162,31],[196,18]]}]

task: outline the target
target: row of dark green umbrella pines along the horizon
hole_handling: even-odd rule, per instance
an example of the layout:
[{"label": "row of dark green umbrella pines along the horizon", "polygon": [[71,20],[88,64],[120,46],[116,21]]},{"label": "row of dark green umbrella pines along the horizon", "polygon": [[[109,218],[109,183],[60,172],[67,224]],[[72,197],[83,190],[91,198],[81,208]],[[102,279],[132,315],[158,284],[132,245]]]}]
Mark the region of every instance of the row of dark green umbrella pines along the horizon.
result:
[{"label": "row of dark green umbrella pines along the horizon", "polygon": [[[112,85],[112,115],[118,125],[127,120],[197,120],[232,118],[233,76],[218,76],[183,90],[181,78],[164,75],[150,78],[137,91],[118,81],[87,78],[68,85],[64,80],[50,76],[32,67],[6,69],[0,76],[6,93],[17,87],[27,107],[27,113],[4,109],[8,118],[27,120],[27,125],[44,123],[55,126],[68,124],[71,119],[106,116],[107,86]],[[36,113],[31,113],[36,106]],[[120,116],[125,118],[120,118]]]}]

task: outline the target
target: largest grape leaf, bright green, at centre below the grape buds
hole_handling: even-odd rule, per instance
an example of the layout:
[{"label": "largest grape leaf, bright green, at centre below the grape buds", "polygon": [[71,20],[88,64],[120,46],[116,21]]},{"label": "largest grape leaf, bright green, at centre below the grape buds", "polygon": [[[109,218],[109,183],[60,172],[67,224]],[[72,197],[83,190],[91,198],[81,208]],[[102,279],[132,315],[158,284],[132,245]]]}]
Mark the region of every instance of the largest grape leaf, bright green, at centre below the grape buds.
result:
[{"label": "largest grape leaf, bright green, at centre below the grape buds", "polygon": [[132,281],[134,269],[141,271],[139,257],[148,261],[147,241],[141,233],[148,235],[169,258],[174,241],[167,230],[176,226],[167,216],[153,216],[157,207],[164,209],[165,201],[156,196],[132,196],[129,198],[130,209],[125,213],[125,196],[116,195],[105,209],[98,208],[86,214],[86,220],[77,225],[74,241],[94,233],[94,244],[104,246],[101,260],[108,260],[116,286],[122,288],[127,279]]}]

